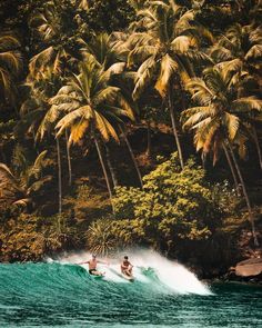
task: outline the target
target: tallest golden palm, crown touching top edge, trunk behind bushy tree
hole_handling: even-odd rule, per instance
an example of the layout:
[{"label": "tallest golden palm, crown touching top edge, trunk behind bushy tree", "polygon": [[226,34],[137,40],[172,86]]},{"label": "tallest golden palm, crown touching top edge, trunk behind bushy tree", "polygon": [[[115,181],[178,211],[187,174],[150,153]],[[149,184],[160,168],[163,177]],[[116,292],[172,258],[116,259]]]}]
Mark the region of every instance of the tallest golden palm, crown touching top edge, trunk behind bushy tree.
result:
[{"label": "tallest golden palm, crown touching top edge, trunk behind bushy tree", "polygon": [[194,12],[173,1],[152,1],[149,8],[138,12],[140,21],[138,32],[130,36],[128,46],[131,51],[128,64],[139,64],[135,77],[133,98],[138,99],[142,91],[153,81],[154,88],[167,101],[170,111],[173,135],[178,147],[181,167],[184,167],[182,147],[179,138],[179,123],[173,105],[173,85],[183,89],[183,83],[193,74],[190,60],[206,58],[198,52],[200,34],[210,33],[192,21]]}]

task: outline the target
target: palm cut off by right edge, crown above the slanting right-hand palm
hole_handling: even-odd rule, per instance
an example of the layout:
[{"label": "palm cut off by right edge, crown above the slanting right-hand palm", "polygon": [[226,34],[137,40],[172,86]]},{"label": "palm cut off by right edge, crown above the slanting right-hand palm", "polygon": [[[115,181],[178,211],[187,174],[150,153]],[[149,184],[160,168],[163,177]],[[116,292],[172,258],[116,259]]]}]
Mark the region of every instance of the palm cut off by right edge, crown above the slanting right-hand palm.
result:
[{"label": "palm cut off by right edge, crown above the slanting right-hand palm", "polygon": [[[244,96],[261,95],[260,71],[262,57],[261,27],[254,24],[232,26],[225,36],[222,36],[211,48],[211,57],[219,67],[231,70],[235,79],[241,81],[240,93]],[[250,136],[253,139],[259,155],[259,162],[262,169],[262,153],[254,125],[255,117],[244,113],[250,126]],[[243,118],[242,118],[243,119]]]}]

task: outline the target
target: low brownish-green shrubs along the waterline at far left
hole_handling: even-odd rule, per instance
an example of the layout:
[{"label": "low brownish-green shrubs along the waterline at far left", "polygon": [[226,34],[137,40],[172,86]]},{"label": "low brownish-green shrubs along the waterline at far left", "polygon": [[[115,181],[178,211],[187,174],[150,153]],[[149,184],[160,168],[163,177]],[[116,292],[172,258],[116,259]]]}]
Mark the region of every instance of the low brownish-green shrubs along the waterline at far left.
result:
[{"label": "low brownish-green shrubs along the waterline at far left", "polygon": [[21,213],[0,226],[0,260],[40,260],[47,255],[78,248],[77,228],[67,223],[67,218],[50,218]]}]

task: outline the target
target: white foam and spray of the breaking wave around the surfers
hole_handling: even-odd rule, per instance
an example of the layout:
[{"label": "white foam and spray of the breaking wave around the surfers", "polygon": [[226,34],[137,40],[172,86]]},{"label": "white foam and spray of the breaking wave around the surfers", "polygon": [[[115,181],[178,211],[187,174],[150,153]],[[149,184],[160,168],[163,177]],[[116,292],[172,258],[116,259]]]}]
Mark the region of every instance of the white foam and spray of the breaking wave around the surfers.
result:
[{"label": "white foam and spray of the breaking wave around the surfers", "polygon": [[[160,254],[144,249],[129,249],[118,252],[114,257],[102,259],[109,261],[109,266],[99,265],[98,269],[105,272],[105,279],[113,282],[127,282],[121,278],[120,262],[123,255],[128,254],[134,266],[135,281],[152,284],[154,287],[165,287],[165,290],[175,294],[212,295],[209,287],[201,282],[184,266],[171,261]],[[90,252],[79,252],[64,256],[59,259],[60,264],[81,264],[91,258]],[[82,265],[88,270],[88,265]]]}]

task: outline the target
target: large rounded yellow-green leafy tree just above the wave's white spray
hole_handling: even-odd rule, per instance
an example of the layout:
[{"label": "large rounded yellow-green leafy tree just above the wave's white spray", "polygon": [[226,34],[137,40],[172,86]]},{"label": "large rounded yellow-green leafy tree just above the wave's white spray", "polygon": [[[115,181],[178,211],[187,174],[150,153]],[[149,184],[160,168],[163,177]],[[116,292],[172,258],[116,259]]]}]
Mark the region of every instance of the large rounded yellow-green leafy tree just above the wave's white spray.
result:
[{"label": "large rounded yellow-green leafy tree just above the wave's white spray", "polygon": [[[143,190],[119,187],[115,217],[128,220],[132,233],[149,243],[175,245],[179,239],[205,239],[219,226],[222,212],[212,199],[204,171],[190,159],[181,171],[178,155],[143,177]],[[123,225],[123,230],[124,230]]]}]

